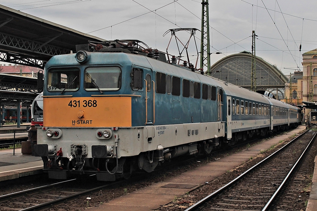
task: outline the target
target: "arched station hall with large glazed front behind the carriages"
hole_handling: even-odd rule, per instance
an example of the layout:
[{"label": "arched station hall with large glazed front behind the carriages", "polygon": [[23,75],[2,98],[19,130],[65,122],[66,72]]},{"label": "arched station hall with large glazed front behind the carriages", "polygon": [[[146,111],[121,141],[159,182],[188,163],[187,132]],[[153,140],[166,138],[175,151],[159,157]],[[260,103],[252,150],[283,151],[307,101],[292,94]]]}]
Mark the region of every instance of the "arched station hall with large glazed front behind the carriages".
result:
[{"label": "arched station hall with large glazed front behind the carriages", "polygon": [[[252,54],[247,51],[232,54],[217,61],[210,67],[214,78],[251,89]],[[278,100],[285,98],[285,83],[288,78],[268,61],[256,56],[256,90],[265,95],[278,93]],[[265,92],[266,91],[266,92]]]}]

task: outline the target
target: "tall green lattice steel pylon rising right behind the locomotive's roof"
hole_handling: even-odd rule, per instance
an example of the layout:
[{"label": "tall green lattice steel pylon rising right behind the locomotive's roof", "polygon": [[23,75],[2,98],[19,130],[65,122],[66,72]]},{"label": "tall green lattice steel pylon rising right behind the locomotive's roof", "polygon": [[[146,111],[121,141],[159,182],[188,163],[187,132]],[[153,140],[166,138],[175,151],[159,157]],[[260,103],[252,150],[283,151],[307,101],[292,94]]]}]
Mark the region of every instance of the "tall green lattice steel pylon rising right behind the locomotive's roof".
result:
[{"label": "tall green lattice steel pylon rising right behind the locomotive's roof", "polygon": [[209,42],[209,9],[208,0],[202,1],[201,16],[201,45],[200,45],[200,68],[207,68],[207,75],[210,75],[210,42]]}]

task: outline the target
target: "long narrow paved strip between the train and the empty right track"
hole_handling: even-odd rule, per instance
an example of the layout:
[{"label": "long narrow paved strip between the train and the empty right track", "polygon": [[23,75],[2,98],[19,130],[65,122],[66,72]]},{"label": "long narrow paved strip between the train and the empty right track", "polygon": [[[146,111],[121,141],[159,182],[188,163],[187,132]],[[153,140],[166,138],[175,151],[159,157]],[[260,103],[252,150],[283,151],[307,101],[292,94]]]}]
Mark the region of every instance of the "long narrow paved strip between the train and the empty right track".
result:
[{"label": "long narrow paved strip between the train and the empty right track", "polygon": [[[278,144],[281,140],[285,140],[293,134],[297,134],[300,131],[305,130],[305,125],[301,125],[296,129],[276,136],[273,139],[264,141],[255,146],[251,146],[242,152],[238,152],[229,156],[225,156],[214,162],[206,164],[204,166],[199,166],[194,171],[187,171],[183,174],[171,177],[170,179],[155,183],[151,186],[138,189],[133,193],[123,195],[119,198],[111,200],[107,203],[103,203],[98,207],[89,208],[89,211],[100,211],[100,210],[112,210],[125,211],[125,210],[141,210],[149,211],[152,209],[159,208],[161,205],[165,205],[175,199],[175,197],[186,194],[197,186],[209,182],[212,179],[219,177],[226,171],[229,171],[236,166],[248,161],[249,158],[255,157],[261,151],[269,149],[271,146]],[[316,175],[317,181],[317,175]],[[162,186],[181,186],[181,184],[187,184],[192,186],[192,188],[171,188]],[[317,186],[317,182],[316,182]],[[317,204],[317,189],[316,189],[316,199],[314,201]],[[308,207],[308,206],[307,206]],[[317,209],[312,209],[317,210]]]}]

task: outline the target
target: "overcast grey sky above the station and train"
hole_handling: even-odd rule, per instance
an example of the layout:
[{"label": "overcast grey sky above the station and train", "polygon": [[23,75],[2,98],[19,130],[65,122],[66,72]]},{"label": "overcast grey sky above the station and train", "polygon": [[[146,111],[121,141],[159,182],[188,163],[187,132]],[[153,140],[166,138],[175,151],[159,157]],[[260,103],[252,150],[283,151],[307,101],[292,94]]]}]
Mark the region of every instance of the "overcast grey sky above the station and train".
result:
[{"label": "overcast grey sky above the station and train", "polygon": [[[199,0],[0,0],[0,4],[106,40],[142,40],[161,51],[170,41],[170,33],[163,37],[169,29],[201,29]],[[317,1],[312,0],[209,0],[211,64],[233,53],[251,52],[255,30],[256,56],[285,75],[297,67],[302,70],[301,54],[317,48],[316,9]],[[189,38],[186,32],[176,35],[183,43]],[[200,36],[197,31],[198,51]],[[175,43],[173,39],[168,52],[178,56]],[[197,55],[194,39],[188,51]],[[194,64],[195,58],[190,58]]]}]

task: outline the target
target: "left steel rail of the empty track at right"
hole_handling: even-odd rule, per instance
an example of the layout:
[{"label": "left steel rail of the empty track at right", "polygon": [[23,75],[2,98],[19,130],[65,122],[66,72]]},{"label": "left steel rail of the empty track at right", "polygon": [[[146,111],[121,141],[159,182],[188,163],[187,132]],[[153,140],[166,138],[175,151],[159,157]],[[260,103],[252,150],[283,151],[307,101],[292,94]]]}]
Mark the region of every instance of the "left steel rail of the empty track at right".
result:
[{"label": "left steel rail of the empty track at right", "polygon": [[293,140],[291,140],[290,142],[288,142],[286,145],[284,145],[283,147],[281,147],[281,149],[277,150],[276,152],[274,152],[273,154],[269,155],[267,158],[263,159],[261,162],[255,164],[254,166],[252,166],[251,168],[249,168],[247,171],[245,171],[243,174],[241,174],[239,177],[236,177],[234,180],[232,180],[230,183],[227,183],[226,185],[224,185],[223,187],[217,189],[215,192],[211,193],[210,195],[206,196],[205,198],[203,198],[202,200],[200,200],[199,202],[196,202],[194,205],[192,205],[191,207],[185,209],[185,211],[192,211],[197,209],[199,206],[201,206],[202,204],[204,204],[205,202],[208,202],[211,198],[214,198],[216,195],[218,195],[219,193],[221,193],[223,190],[227,189],[228,187],[232,186],[233,184],[235,184],[236,182],[238,182],[240,179],[242,179],[243,177],[245,177],[250,171],[253,171],[256,167],[258,167],[259,165],[261,165],[262,163],[266,162],[268,159],[270,159],[271,157],[273,157],[275,154],[281,152],[285,147],[287,147],[288,145],[290,145],[291,143],[293,143],[295,140],[297,140],[298,138],[300,138],[303,134],[307,133],[308,130],[306,130],[304,133],[300,134],[299,136],[297,136],[296,138],[294,138]]}]

